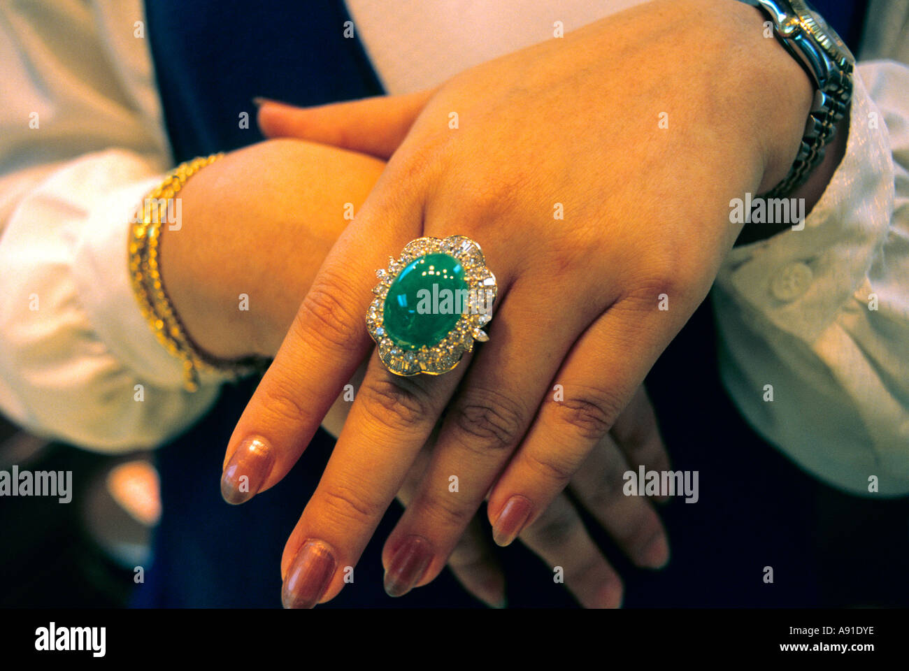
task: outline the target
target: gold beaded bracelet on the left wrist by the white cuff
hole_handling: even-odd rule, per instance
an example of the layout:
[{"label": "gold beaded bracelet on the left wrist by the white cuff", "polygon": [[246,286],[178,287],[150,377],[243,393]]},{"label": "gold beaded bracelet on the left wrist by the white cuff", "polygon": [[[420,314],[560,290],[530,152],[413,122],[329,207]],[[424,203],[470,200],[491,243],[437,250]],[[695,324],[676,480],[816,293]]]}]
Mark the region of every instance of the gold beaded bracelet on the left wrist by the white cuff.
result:
[{"label": "gold beaded bracelet on the left wrist by the white cuff", "polygon": [[195,392],[199,388],[199,374],[216,372],[234,378],[253,372],[262,372],[267,360],[249,357],[238,361],[225,361],[205,355],[186,333],[174,305],[165,292],[158,265],[158,242],[161,225],[171,222],[177,210],[175,197],[191,176],[206,165],[211,165],[224,153],[200,156],[177,166],[154,190],[145,195],[141,217],[135,217],[129,236],[129,274],[136,300],[145,321],[151,325],[158,342],[173,356],[183,362],[184,387]]}]

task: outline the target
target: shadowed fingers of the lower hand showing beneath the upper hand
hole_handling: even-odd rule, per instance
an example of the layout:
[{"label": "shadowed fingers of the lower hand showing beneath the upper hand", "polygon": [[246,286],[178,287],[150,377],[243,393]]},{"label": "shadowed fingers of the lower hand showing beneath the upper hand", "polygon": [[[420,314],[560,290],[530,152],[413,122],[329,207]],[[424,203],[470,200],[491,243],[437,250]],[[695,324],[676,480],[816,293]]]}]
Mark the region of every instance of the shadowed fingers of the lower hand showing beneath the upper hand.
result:
[{"label": "shadowed fingers of the lower hand showing beneath the upper hand", "polygon": [[[352,380],[355,386],[362,383],[364,374],[361,367]],[[322,423],[334,436],[340,435],[350,411],[351,404],[345,396],[338,397]],[[397,494],[405,507],[419,491],[434,441],[435,434],[416,456]],[[659,568],[669,559],[664,526],[646,498],[622,494],[623,474],[631,463],[644,464],[648,470],[669,468],[669,456],[643,387],[624,409],[612,433],[592,450],[568,488],[577,504],[594,516],[636,566]],[[622,580],[587,533],[577,504],[564,493],[559,494],[518,538],[550,568],[562,566],[564,584],[582,606],[619,606]],[[448,567],[468,592],[489,606],[501,607],[505,603],[505,576],[483,527],[479,517],[474,516],[448,557]],[[510,539],[496,540],[504,543]],[[395,590],[394,579],[386,583],[386,588]]]}]

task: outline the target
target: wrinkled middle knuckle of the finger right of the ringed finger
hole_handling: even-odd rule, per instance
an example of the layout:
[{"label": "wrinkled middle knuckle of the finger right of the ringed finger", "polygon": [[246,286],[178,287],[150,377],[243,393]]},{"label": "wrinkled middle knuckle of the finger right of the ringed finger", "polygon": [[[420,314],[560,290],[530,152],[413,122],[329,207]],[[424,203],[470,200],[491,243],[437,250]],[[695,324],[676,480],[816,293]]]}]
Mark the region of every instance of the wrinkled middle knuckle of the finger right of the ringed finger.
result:
[{"label": "wrinkled middle knuckle of the finger right of the ringed finger", "polygon": [[478,392],[454,408],[453,422],[464,444],[477,450],[500,451],[521,437],[524,413],[520,404],[498,392]]}]

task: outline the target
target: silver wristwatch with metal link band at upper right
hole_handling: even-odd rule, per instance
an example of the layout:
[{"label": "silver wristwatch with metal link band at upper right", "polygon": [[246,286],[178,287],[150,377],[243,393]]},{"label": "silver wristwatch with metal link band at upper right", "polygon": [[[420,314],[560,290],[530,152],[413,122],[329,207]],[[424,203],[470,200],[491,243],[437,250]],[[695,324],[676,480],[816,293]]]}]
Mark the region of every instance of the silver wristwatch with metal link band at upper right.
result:
[{"label": "silver wristwatch with metal link band at upper right", "polygon": [[855,58],[834,29],[804,0],[743,1],[764,11],[774,25],[777,40],[814,83],[814,103],[795,163],[767,194],[778,197],[802,184],[824,158],[824,147],[834,139],[836,125],[852,100]]}]

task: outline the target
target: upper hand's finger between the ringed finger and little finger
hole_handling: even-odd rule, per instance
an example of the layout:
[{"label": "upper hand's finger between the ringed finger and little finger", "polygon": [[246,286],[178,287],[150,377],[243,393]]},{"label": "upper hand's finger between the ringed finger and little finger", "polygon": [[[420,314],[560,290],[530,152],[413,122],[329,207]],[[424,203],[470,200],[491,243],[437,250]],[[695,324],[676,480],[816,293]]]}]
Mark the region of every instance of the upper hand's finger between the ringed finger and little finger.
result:
[{"label": "upper hand's finger between the ringed finger and little finger", "polygon": [[[385,544],[386,582],[396,593],[425,585],[445,566],[464,527],[524,436],[541,390],[574,335],[593,318],[586,314],[586,306],[559,315],[541,310],[539,306],[552,305],[541,294],[538,287],[510,289],[497,311],[490,341],[474,356],[448,408],[420,490]],[[527,323],[534,328],[527,328]],[[422,576],[401,566],[406,554],[400,547],[415,537],[431,556]]]}]

